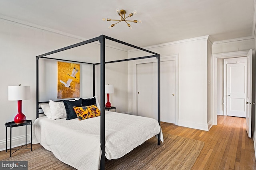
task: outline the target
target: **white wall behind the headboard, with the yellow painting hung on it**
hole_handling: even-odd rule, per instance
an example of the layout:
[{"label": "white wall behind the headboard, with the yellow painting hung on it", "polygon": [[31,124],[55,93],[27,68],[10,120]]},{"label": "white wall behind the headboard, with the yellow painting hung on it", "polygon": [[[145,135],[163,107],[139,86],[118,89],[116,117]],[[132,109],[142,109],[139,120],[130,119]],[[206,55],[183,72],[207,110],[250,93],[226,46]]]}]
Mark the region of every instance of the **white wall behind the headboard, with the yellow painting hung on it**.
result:
[{"label": "white wall behind the headboard, with the yellow painting hung on it", "polygon": [[[13,121],[14,116],[17,114],[17,102],[8,101],[8,86],[18,84],[31,86],[31,99],[23,101],[22,112],[26,115],[27,119],[34,121],[36,119],[36,56],[81,42],[82,40],[2,20],[0,20],[0,25],[0,150],[4,150],[4,123]],[[90,47],[80,47],[61,52],[58,55],[64,59],[81,61],[84,54],[86,54],[86,57],[89,56],[89,59],[94,61],[95,56],[100,56],[98,49],[99,45],[93,44]],[[58,55],[52,56],[58,57]],[[115,59],[124,59],[127,56],[128,53],[126,51],[106,47],[106,58],[116,57]],[[41,81],[41,87],[43,88],[40,94],[43,95],[46,92],[44,95],[49,95],[49,98],[54,99],[56,98],[57,83],[56,61],[40,62],[42,64],[40,73],[48,75],[44,77],[44,82]],[[110,64],[106,67],[106,72],[118,72],[117,74],[106,76],[106,83],[112,83],[115,86],[115,94],[111,96],[112,105],[117,106],[117,111],[120,112],[127,112],[127,91],[123,90],[127,89],[127,65],[128,63],[120,65]],[[82,64],[81,70],[88,73],[81,74],[80,83],[81,97],[87,97],[92,95],[92,67],[88,68],[86,64]],[[96,76],[99,76],[99,74],[96,74]],[[49,86],[49,84],[52,84],[52,86]],[[100,91],[100,89],[96,89],[96,91]],[[122,100],[119,100],[120,96],[122,96]],[[46,100],[46,97],[41,96],[41,99]],[[28,128],[30,127],[28,126]],[[29,137],[30,135],[28,135]],[[9,139],[10,128],[8,128]],[[25,143],[25,127],[13,128],[12,146],[21,145],[22,143]]]}]

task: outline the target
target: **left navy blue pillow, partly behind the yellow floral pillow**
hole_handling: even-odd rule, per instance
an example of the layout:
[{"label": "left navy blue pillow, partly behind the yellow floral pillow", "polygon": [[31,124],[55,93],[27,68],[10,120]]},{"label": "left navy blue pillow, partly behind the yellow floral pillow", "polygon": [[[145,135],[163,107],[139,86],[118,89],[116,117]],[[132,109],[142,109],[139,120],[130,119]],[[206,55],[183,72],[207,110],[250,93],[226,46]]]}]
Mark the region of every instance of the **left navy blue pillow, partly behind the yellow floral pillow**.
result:
[{"label": "left navy blue pillow, partly behind the yellow floral pillow", "polygon": [[81,107],[82,106],[82,99],[75,100],[75,101],[67,101],[63,100],[63,103],[65,105],[67,118],[66,120],[75,119],[77,118],[76,112],[74,111],[74,106]]}]

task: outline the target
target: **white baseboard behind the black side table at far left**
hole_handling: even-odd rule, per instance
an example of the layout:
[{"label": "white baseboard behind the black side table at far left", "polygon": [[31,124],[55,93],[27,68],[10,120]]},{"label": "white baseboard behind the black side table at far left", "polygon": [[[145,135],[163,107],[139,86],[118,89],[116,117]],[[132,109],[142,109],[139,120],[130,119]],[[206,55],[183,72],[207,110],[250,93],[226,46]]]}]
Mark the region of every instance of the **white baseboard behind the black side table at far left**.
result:
[{"label": "white baseboard behind the black side table at far left", "polygon": [[[27,144],[30,143],[31,136],[27,134]],[[26,144],[26,135],[12,137],[12,148],[19,147]],[[0,141],[0,151],[5,150],[6,140]],[[10,149],[10,138],[7,139],[7,149]]]}]

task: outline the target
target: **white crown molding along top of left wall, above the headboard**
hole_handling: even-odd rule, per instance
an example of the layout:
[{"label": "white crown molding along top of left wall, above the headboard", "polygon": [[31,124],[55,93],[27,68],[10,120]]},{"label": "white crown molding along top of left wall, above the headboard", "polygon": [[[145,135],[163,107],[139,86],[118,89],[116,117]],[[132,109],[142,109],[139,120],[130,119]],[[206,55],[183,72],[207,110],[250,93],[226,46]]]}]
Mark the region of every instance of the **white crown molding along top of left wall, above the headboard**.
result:
[{"label": "white crown molding along top of left wall, above the headboard", "polygon": [[[66,33],[66,32],[63,32],[63,31],[59,31],[59,30],[56,30],[56,29],[51,29],[49,27],[43,27],[41,25],[37,25],[37,24],[34,24],[34,23],[18,20],[16,18],[11,18],[11,17],[8,17],[8,16],[3,16],[2,14],[0,14],[0,21],[11,23],[11,24],[18,25],[18,26],[21,26],[21,27],[30,28],[30,29],[39,29],[40,31],[50,32],[50,33],[62,35],[62,36],[69,37],[69,38],[74,38],[74,39],[81,40],[81,41],[88,40],[88,39],[86,39],[84,37],[80,37],[80,36],[77,36],[77,35],[69,34],[69,33]],[[94,43],[100,45],[99,42],[94,42]],[[126,49],[122,49],[122,48],[115,47],[115,46],[112,46],[112,45],[106,45],[106,47],[110,47],[112,49],[117,49],[117,50],[120,50],[120,51],[128,52],[128,50],[126,50]]]}]

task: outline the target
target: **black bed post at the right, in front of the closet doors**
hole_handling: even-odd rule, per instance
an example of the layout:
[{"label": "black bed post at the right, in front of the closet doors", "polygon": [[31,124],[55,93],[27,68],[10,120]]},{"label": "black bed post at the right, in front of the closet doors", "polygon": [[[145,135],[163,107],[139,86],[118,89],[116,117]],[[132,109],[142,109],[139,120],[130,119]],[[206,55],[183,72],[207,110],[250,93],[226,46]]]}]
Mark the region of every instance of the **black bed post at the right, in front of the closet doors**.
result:
[{"label": "black bed post at the right, in front of the closet doors", "polygon": [[[158,123],[159,123],[159,125],[161,125],[160,124],[160,88],[161,88],[161,86],[160,86],[160,55],[158,55],[158,57],[157,57],[157,91],[158,91]],[[161,127],[161,126],[160,126]],[[161,132],[159,132],[159,134],[158,134],[158,145],[160,145],[160,135],[161,135]]]}]

